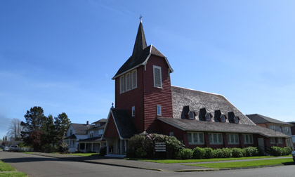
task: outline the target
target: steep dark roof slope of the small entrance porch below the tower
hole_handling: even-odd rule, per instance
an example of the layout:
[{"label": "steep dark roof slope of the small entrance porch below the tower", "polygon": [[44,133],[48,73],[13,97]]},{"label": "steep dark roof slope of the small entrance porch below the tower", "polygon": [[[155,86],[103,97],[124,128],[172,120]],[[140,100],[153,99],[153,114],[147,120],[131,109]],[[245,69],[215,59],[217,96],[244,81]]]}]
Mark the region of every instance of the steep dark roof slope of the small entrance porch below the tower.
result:
[{"label": "steep dark roof slope of the small entrance porch below the tower", "polygon": [[112,108],[111,112],[114,118],[114,122],[117,125],[119,136],[124,139],[128,139],[138,133],[128,110]]}]

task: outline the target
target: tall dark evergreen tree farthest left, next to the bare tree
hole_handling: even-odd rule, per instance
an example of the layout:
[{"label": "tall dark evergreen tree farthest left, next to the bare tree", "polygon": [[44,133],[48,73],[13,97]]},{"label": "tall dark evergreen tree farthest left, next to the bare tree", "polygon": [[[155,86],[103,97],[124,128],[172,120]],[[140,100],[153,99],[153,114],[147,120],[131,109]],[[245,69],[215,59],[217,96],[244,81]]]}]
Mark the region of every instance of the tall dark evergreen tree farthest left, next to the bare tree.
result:
[{"label": "tall dark evergreen tree farthest left, next to the bare tree", "polygon": [[23,127],[22,138],[27,145],[32,145],[34,150],[39,151],[43,145],[42,136],[46,130],[46,117],[42,107],[31,107],[25,114],[25,122],[21,123]]}]

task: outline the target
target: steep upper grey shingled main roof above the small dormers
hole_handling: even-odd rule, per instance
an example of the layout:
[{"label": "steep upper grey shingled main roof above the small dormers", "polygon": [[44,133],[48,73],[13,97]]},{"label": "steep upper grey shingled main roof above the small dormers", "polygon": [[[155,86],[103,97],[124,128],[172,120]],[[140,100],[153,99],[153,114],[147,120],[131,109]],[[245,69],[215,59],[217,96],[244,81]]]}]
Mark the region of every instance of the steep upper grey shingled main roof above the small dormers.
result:
[{"label": "steep upper grey shingled main roof above the small dormers", "polygon": [[[178,86],[171,86],[173,118],[181,119],[183,107],[189,105],[190,109],[195,110],[199,116],[199,111],[206,108],[206,112],[214,114],[216,110],[220,110],[226,116],[228,112],[234,112],[235,116],[240,118],[239,124],[255,125],[248,117],[237,109],[224,96],[207,93],[204,91],[196,91],[185,89]],[[214,119],[212,119],[214,121]]]}]

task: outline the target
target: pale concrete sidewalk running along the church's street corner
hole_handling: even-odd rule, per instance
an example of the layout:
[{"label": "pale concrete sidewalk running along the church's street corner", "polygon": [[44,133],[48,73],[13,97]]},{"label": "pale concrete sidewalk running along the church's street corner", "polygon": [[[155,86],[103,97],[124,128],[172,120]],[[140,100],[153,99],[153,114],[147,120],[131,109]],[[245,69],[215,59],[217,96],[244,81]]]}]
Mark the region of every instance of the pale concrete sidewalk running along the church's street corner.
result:
[{"label": "pale concrete sidewalk running along the church's street corner", "polygon": [[[218,162],[195,162],[195,163],[179,163],[179,164],[160,164],[155,162],[143,162],[136,160],[125,160],[125,159],[116,159],[116,158],[107,158],[101,157],[98,155],[82,157],[75,155],[60,155],[60,154],[48,154],[42,152],[34,152],[33,155],[41,155],[46,157],[67,159],[77,162],[88,162],[93,164],[104,164],[112,166],[122,166],[135,169],[148,169],[156,171],[218,171],[224,169],[210,169],[202,166],[186,166],[183,164],[204,164],[204,163],[220,163],[220,162],[242,162],[242,161],[252,161],[252,160],[261,160],[261,159],[242,159],[242,160],[228,160],[228,161],[218,161]],[[291,157],[274,157],[268,159],[284,159]]]}]

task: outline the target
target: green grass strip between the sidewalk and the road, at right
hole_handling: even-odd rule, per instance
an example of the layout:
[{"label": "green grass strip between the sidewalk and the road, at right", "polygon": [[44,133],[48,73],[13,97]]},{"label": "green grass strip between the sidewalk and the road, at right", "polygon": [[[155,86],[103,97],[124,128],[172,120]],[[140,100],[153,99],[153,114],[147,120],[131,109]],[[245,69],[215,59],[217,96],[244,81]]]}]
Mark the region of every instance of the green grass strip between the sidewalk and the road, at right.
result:
[{"label": "green grass strip between the sidewalk and the road, at right", "polygon": [[293,159],[263,159],[263,160],[251,160],[244,162],[222,162],[222,163],[209,163],[209,164],[185,164],[189,166],[203,166],[213,169],[226,169],[226,168],[240,168],[251,166],[266,166],[277,164],[294,164]]}]

